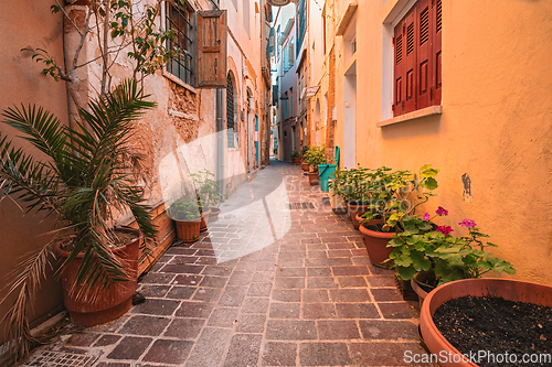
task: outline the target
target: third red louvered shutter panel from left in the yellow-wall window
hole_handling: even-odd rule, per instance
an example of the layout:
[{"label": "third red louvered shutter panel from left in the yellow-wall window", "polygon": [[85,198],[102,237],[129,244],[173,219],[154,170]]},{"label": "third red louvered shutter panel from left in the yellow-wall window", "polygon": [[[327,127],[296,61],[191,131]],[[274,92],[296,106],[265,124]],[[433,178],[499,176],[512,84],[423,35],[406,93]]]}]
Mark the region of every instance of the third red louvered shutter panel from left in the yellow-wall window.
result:
[{"label": "third red louvered shutter panel from left in the yellow-wall window", "polygon": [[417,109],[431,106],[431,89],[433,86],[432,71],[432,10],[429,0],[418,0],[417,19],[418,36],[417,55]]}]

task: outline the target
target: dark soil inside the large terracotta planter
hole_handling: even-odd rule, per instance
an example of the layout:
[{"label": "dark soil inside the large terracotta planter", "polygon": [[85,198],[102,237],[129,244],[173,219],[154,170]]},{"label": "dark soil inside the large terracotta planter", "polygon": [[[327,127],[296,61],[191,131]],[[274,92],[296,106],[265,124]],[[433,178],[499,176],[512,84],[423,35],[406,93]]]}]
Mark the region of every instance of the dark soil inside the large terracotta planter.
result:
[{"label": "dark soil inside the large terracotta planter", "polygon": [[495,356],[517,355],[517,363],[498,363],[498,358],[492,363],[492,358],[485,357],[478,366],[550,366],[523,364],[522,358],[524,354],[552,354],[552,307],[500,298],[463,296],[440,305],[433,321],[461,354],[485,350]]}]

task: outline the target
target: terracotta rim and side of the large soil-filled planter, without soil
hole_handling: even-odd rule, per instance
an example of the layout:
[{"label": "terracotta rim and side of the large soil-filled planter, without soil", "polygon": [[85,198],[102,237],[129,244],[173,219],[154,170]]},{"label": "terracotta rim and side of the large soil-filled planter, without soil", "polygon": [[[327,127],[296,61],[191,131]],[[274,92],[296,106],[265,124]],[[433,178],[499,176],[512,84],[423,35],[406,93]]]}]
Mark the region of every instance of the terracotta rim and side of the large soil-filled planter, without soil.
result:
[{"label": "terracotta rim and side of the large soil-filled planter, without soil", "polygon": [[449,363],[440,363],[443,367],[475,367],[476,364],[468,361],[453,363],[454,356],[461,360],[461,353],[458,352],[440,334],[433,322],[435,311],[445,302],[460,296],[496,296],[513,302],[533,303],[542,306],[552,306],[552,287],[532,282],[510,279],[464,279],[443,284],[433,290],[424,301],[420,314],[420,330],[423,341],[432,354],[446,353],[452,355],[447,358]]}]

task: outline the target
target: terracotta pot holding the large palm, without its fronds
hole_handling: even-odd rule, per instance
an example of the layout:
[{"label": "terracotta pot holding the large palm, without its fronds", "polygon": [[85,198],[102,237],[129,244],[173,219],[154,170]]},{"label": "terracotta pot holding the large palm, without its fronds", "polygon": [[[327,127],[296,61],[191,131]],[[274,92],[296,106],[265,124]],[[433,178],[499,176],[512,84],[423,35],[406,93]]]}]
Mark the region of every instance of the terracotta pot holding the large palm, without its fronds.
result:
[{"label": "terracotta pot holding the large palm, without its fronds", "polygon": [[[128,245],[114,249],[114,253],[126,265],[128,281],[114,283],[107,290],[99,290],[100,284],[91,290],[86,285],[73,287],[75,277],[81,266],[83,255],[78,255],[62,271],[63,302],[68,310],[73,322],[94,326],[113,321],[126,313],[132,305],[132,295],[136,292],[138,276],[139,246],[144,236],[138,229],[117,228],[117,231],[131,233],[136,235]],[[54,245],[54,251],[62,260],[70,257],[70,252],[61,249],[63,241]],[[94,292],[95,291],[95,292]],[[97,293],[100,296],[94,296]],[[78,296],[77,296],[78,294]]]}]

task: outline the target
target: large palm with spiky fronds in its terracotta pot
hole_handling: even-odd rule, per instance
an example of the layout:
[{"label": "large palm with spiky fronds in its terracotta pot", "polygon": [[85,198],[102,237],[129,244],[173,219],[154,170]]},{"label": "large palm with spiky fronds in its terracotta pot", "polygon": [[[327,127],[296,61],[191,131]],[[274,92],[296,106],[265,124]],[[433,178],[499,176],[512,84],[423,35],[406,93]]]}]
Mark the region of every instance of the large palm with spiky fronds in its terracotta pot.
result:
[{"label": "large palm with spiky fronds in its terracotta pot", "polygon": [[[26,350],[21,349],[30,335],[25,311],[52,253],[64,260],[64,303],[76,323],[105,323],[130,307],[139,247],[147,253],[156,234],[136,183],[141,155],[129,144],[135,120],[156,106],[147,97],[136,80],[124,82],[81,109],[76,128],[42,108],[3,111],[4,122],[47,156],[38,160],[0,134],[3,195],[24,202],[28,212],[57,218],[54,240],[25,260],[11,281],[10,293],[20,292],[9,315],[15,350]],[[128,212],[140,230],[115,226],[117,215]]]}]

